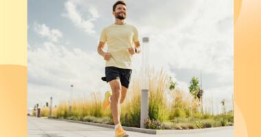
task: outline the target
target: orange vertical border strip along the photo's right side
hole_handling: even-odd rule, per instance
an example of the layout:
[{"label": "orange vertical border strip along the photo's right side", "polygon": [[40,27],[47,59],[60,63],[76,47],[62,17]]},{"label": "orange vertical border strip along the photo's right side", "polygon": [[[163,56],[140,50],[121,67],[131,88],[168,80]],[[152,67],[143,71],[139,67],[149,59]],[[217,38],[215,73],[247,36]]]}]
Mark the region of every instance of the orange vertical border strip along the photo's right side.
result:
[{"label": "orange vertical border strip along the photo's right side", "polygon": [[[242,5],[241,5],[242,3]],[[260,136],[261,99],[261,1],[235,0],[234,92],[238,111],[235,136]],[[242,112],[243,119],[238,119]],[[242,123],[247,129],[242,131]]]}]

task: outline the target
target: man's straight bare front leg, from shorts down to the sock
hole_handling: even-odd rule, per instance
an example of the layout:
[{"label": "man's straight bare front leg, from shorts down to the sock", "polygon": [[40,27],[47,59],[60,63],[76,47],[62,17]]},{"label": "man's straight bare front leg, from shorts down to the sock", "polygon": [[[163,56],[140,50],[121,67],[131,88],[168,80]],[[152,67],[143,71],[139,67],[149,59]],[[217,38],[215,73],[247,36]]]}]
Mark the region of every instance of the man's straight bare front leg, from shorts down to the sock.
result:
[{"label": "man's straight bare front leg, from shorts down to the sock", "polygon": [[111,114],[113,115],[114,124],[120,123],[120,98],[122,85],[120,79],[114,79],[109,82],[113,95],[111,96]]}]

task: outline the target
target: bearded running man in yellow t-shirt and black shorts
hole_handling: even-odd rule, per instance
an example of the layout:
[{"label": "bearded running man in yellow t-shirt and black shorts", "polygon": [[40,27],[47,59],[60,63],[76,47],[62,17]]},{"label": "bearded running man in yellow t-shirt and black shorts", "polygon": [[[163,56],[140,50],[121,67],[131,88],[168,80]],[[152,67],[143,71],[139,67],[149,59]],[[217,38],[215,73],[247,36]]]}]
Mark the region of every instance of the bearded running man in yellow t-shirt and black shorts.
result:
[{"label": "bearded running man in yellow t-shirt and black shorts", "polygon": [[[128,85],[131,81],[131,59],[135,53],[140,53],[137,28],[126,23],[126,3],[117,1],[113,5],[115,23],[102,29],[98,53],[106,60],[105,75],[102,79],[109,82],[111,91],[105,93],[103,109],[111,105],[111,113],[115,124],[115,136],[126,137],[128,134],[120,124],[121,108]],[[104,51],[107,42],[108,51]],[[133,43],[135,47],[133,47]]]}]

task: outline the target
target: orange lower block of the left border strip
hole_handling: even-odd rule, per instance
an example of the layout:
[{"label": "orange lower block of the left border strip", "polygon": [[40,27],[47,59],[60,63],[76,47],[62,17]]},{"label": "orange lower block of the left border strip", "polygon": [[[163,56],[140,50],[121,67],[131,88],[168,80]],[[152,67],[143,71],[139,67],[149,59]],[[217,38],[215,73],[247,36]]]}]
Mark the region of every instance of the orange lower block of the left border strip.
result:
[{"label": "orange lower block of the left border strip", "polygon": [[27,136],[27,67],[0,65],[0,136]]}]

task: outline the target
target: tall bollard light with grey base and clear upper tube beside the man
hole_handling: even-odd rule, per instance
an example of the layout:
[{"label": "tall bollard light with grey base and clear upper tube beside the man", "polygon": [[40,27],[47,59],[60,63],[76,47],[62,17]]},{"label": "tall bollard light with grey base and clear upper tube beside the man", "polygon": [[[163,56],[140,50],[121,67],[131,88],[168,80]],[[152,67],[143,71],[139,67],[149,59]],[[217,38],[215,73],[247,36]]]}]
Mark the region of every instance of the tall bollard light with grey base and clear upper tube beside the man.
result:
[{"label": "tall bollard light with grey base and clear upper tube beside the man", "polygon": [[142,38],[141,128],[144,128],[144,121],[148,118],[148,40],[148,37]]}]

